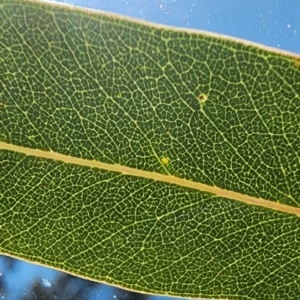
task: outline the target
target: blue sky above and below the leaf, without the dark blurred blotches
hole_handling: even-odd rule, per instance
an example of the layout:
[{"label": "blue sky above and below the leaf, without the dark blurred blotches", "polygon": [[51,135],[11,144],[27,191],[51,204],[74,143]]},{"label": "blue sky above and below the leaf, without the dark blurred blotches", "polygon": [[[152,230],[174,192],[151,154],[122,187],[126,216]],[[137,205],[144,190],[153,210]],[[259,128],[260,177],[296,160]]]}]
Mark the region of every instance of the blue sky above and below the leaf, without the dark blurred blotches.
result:
[{"label": "blue sky above and below the leaf, without the dark blurred blotches", "polygon": [[[300,53],[299,0],[69,0],[61,2],[156,23],[213,31]],[[11,291],[5,299],[20,299],[26,294],[26,286],[33,280],[40,280],[45,288],[50,288],[56,277],[57,272],[54,270],[24,262],[16,263],[14,272],[10,272],[5,261],[0,258],[0,280],[6,282]],[[98,291],[91,294],[91,299],[117,300],[113,295],[112,289],[101,286]]]}]

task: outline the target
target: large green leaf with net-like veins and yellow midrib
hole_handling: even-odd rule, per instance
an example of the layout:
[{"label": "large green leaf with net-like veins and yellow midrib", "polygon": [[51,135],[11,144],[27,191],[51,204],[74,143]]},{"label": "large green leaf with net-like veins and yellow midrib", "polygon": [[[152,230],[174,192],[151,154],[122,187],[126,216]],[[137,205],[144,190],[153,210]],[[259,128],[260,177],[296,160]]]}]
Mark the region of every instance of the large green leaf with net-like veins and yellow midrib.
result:
[{"label": "large green leaf with net-like veins and yellow midrib", "polygon": [[183,297],[300,293],[300,57],[0,4],[0,251]]}]

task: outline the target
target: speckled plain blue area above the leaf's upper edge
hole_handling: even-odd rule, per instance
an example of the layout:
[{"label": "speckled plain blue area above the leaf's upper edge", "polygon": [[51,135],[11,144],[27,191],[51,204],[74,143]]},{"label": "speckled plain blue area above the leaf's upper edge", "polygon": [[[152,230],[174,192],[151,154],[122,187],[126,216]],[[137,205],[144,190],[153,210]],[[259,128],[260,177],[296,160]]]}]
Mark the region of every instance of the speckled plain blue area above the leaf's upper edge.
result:
[{"label": "speckled plain blue area above the leaf's upper edge", "polygon": [[300,53],[299,0],[55,0]]}]

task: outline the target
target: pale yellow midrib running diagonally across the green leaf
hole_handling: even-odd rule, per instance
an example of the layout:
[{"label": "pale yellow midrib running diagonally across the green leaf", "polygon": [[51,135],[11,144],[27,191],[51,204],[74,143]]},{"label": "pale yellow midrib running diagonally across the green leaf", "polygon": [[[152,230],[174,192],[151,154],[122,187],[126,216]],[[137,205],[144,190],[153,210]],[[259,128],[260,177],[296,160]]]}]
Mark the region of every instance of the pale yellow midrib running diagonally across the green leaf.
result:
[{"label": "pale yellow midrib running diagonally across the green leaf", "polygon": [[80,165],[80,166],[91,167],[91,168],[99,168],[99,169],[104,169],[104,170],[108,170],[108,171],[112,171],[112,172],[122,173],[124,175],[143,177],[143,178],[148,178],[148,179],[166,182],[166,183],[170,183],[170,184],[176,184],[179,186],[192,188],[192,189],[199,190],[202,192],[211,193],[211,194],[214,194],[215,196],[224,197],[224,198],[228,198],[228,199],[232,199],[232,200],[237,200],[237,201],[240,201],[243,203],[262,206],[262,207],[265,207],[268,209],[273,209],[276,211],[291,213],[291,214],[300,216],[300,208],[297,208],[297,207],[292,207],[289,205],[280,204],[278,202],[244,195],[244,194],[237,193],[234,191],[221,189],[216,186],[210,186],[210,185],[203,184],[200,182],[194,182],[194,181],[178,178],[178,177],[175,177],[172,175],[163,175],[163,174],[159,174],[159,173],[155,173],[155,172],[149,172],[149,171],[128,168],[128,167],[121,166],[118,164],[113,165],[113,164],[107,164],[107,163],[103,163],[103,162],[99,162],[99,161],[95,161],[95,160],[81,159],[81,158],[77,158],[77,157],[59,154],[59,153],[56,153],[53,151],[42,151],[42,150],[37,150],[37,149],[25,148],[25,147],[16,146],[16,145],[4,143],[4,142],[0,142],[0,150],[1,149],[23,153],[28,156],[48,158],[48,159],[62,161],[64,163],[70,163],[70,164],[75,164],[75,165]]}]

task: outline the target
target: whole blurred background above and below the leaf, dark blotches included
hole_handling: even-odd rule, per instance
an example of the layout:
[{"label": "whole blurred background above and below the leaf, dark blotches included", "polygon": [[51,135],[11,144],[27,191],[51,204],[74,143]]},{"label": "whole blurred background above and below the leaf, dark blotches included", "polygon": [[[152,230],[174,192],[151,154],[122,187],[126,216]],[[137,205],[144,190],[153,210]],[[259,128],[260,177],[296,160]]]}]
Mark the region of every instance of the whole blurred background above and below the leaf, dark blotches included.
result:
[{"label": "whole blurred background above and below the leaf, dark blotches included", "polygon": [[[299,0],[68,0],[57,2],[109,11],[171,26],[213,31],[300,53]],[[0,299],[166,300],[170,298],[135,294],[0,256]]]}]

